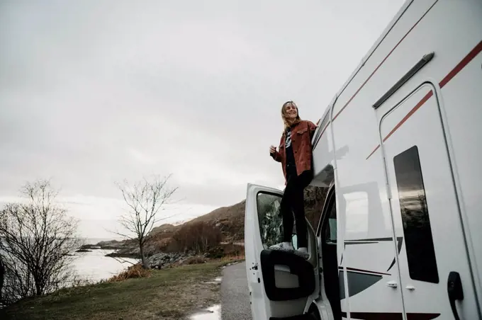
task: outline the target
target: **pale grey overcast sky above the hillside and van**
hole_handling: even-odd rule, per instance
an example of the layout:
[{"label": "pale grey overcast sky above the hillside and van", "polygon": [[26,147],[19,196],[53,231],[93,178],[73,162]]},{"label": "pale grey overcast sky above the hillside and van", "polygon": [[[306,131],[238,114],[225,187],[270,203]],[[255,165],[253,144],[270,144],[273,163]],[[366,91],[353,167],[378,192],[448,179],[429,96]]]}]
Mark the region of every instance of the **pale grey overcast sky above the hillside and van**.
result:
[{"label": "pale grey overcast sky above the hillside and van", "polygon": [[123,178],[172,173],[174,220],[281,188],[281,105],[316,122],[402,4],[1,0],[0,202],[52,178],[108,238]]}]

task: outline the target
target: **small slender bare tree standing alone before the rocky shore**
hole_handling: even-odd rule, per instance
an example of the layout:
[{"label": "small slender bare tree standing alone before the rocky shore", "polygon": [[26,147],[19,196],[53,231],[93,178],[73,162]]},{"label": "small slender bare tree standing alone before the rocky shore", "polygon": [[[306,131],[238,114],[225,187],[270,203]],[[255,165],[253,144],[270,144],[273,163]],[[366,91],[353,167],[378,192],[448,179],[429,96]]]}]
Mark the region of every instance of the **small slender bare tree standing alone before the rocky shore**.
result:
[{"label": "small slender bare tree standing alone before the rocky shore", "polygon": [[154,224],[166,219],[166,217],[159,219],[157,215],[159,210],[163,209],[162,206],[169,201],[177,190],[177,188],[168,188],[167,181],[169,178],[170,175],[164,178],[154,176],[152,180],[143,178],[132,186],[126,180],[122,185],[118,183],[118,188],[128,205],[128,213],[120,217],[120,224],[130,234],[119,232],[116,232],[116,234],[133,239],[138,243],[142,266],[146,269],[149,268],[144,250],[147,236]]}]

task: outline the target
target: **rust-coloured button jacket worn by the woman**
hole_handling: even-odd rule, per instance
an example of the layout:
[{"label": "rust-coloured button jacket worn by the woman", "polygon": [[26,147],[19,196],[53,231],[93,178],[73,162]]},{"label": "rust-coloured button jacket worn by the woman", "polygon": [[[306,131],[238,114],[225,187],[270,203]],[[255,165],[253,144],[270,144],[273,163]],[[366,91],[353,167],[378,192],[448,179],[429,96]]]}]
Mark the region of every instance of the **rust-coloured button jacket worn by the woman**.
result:
[{"label": "rust-coloured button jacket worn by the woman", "polygon": [[[312,150],[311,139],[315,134],[316,125],[309,120],[301,120],[294,127],[291,127],[291,147],[293,147],[293,155],[296,164],[296,173],[300,175],[303,171],[310,170],[312,164]],[[283,174],[286,184],[286,148],[284,146],[284,139],[286,131],[281,135],[279,142],[279,152],[276,151],[271,154],[274,160],[281,162],[283,167]]]}]

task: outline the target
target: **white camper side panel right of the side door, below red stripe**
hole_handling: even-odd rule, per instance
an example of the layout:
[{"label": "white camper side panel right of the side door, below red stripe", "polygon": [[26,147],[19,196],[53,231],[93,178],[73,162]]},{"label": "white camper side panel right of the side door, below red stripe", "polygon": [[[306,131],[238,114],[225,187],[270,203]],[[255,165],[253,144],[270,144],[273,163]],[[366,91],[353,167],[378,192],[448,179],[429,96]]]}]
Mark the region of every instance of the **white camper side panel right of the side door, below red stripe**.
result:
[{"label": "white camper side panel right of the side door, below red stripe", "polygon": [[[479,28],[482,28],[482,25]],[[448,123],[447,133],[451,140],[449,148],[453,154],[452,166],[456,171],[456,185],[461,199],[461,215],[466,235],[470,239],[472,270],[477,280],[479,304],[482,305],[481,65],[482,55],[479,54],[473,59],[470,67],[466,67],[456,79],[442,89],[442,101],[446,106],[444,113]],[[452,105],[453,108],[447,108],[448,105]]]}]

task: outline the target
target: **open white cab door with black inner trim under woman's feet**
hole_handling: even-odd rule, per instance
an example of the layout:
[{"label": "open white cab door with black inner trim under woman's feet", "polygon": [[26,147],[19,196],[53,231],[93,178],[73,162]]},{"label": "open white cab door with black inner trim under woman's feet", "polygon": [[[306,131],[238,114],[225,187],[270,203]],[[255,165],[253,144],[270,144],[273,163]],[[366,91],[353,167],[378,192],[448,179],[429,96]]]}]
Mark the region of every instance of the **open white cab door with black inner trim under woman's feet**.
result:
[{"label": "open white cab door with black inner trim under woman's feet", "polygon": [[[247,185],[245,254],[253,320],[317,319],[307,314],[320,292],[318,248],[308,223],[307,260],[294,253],[271,251],[281,241],[279,214],[283,192],[261,185]],[[293,247],[296,248],[296,234]]]}]

